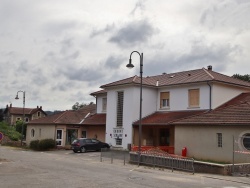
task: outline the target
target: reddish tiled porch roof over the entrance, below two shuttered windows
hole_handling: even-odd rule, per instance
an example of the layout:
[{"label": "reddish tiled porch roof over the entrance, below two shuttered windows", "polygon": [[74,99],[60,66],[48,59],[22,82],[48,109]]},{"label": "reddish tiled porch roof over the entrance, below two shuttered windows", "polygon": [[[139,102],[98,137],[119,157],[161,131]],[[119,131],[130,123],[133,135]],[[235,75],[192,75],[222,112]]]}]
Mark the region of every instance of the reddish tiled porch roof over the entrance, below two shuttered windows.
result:
[{"label": "reddish tiled porch roof over the entrance, below two shuttered windows", "polygon": [[[175,112],[155,112],[142,119],[142,125],[166,125],[182,118],[190,117],[193,115],[204,113],[205,110],[188,110],[188,111],[175,111]],[[133,123],[138,125],[139,121]]]}]

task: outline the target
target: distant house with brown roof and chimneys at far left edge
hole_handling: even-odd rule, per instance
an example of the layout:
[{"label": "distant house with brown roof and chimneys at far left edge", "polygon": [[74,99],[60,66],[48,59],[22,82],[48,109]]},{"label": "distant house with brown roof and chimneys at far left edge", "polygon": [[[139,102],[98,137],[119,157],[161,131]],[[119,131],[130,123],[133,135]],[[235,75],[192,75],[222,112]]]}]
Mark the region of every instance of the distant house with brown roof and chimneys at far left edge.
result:
[{"label": "distant house with brown roof and chimneys at far left edge", "polygon": [[47,116],[46,112],[43,111],[42,106],[37,106],[36,108],[21,108],[13,107],[12,104],[10,104],[10,106],[6,105],[3,114],[4,121],[10,125],[15,125],[17,121],[23,119],[23,116],[25,123]]}]

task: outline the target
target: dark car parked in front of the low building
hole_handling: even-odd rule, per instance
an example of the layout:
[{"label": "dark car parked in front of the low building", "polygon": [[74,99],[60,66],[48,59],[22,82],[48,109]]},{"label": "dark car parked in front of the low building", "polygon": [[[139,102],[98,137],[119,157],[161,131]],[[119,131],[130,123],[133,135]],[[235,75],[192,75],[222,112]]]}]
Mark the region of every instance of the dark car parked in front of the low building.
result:
[{"label": "dark car parked in front of the low building", "polygon": [[89,138],[77,138],[71,144],[71,149],[75,153],[78,151],[81,153],[86,151],[100,151],[102,148],[110,148],[110,146],[107,143]]}]

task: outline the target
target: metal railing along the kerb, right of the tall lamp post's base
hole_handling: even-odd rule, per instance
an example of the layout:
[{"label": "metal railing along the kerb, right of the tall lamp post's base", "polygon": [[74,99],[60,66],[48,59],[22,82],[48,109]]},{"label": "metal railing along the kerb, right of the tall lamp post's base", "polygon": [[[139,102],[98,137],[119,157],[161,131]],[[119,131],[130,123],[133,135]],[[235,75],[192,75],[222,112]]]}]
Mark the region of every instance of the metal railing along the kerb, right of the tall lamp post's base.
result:
[{"label": "metal railing along the kerb, right of the tall lamp post's base", "polygon": [[183,170],[192,172],[194,174],[193,158],[170,155],[159,148],[152,148],[150,150],[143,151],[141,154],[138,154],[137,152],[131,152],[130,162],[138,163],[138,165],[151,165],[154,166],[154,168],[156,166],[170,168],[172,171],[174,169]]}]

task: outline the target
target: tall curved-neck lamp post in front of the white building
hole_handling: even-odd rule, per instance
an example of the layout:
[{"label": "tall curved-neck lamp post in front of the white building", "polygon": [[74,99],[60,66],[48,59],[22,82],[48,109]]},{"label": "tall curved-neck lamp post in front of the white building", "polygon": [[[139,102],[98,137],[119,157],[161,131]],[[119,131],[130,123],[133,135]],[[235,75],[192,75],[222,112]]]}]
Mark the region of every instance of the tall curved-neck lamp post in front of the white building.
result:
[{"label": "tall curved-neck lamp post in front of the white building", "polygon": [[140,165],[140,155],[141,155],[141,136],[142,136],[142,127],[141,127],[141,119],[142,119],[142,73],[143,73],[143,53],[139,53],[138,51],[133,51],[130,54],[129,64],[127,64],[127,68],[133,68],[132,64],[132,54],[137,53],[140,56],[140,115],[139,115],[139,145],[138,145],[138,166]]}]

